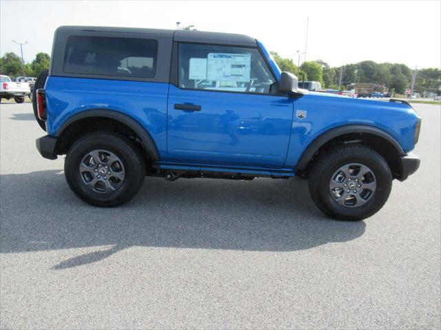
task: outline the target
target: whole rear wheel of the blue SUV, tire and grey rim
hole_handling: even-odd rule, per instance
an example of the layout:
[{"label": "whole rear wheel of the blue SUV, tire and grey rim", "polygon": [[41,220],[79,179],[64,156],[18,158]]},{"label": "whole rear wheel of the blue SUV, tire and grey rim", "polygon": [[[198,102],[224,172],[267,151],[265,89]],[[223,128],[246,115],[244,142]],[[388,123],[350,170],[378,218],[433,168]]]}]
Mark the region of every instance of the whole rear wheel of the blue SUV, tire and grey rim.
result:
[{"label": "whole rear wheel of the blue SUV, tire and grey rim", "polygon": [[94,206],[119,206],[136,195],[144,182],[139,148],[113,133],[84,135],[65,159],[65,177],[73,192]]}]

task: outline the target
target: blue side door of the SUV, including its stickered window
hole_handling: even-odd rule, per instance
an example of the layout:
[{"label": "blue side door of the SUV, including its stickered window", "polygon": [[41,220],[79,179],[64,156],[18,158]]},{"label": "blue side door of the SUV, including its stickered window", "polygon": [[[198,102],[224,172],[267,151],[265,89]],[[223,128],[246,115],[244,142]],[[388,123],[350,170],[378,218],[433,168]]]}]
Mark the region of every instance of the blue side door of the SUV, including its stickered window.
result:
[{"label": "blue side door of the SUV, including its stickered window", "polygon": [[177,86],[167,104],[167,160],[180,164],[280,168],[293,102],[257,48],[181,43]]}]

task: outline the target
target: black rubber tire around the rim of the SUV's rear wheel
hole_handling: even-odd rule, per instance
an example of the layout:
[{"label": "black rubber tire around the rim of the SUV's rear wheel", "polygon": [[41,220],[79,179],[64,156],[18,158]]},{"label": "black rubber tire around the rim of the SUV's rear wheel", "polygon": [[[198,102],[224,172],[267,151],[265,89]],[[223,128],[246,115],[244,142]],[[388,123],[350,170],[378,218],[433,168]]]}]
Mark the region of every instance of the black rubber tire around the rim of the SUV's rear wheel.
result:
[{"label": "black rubber tire around the rim of the SUV's rear wheel", "polygon": [[[123,163],[125,177],[113,192],[92,191],[83,181],[79,166],[83,157],[94,150],[114,153]],[[77,197],[93,206],[113,207],[126,203],[143,186],[145,164],[141,151],[134,142],[122,135],[95,132],[84,135],[70,148],[64,164],[65,178]]]}]

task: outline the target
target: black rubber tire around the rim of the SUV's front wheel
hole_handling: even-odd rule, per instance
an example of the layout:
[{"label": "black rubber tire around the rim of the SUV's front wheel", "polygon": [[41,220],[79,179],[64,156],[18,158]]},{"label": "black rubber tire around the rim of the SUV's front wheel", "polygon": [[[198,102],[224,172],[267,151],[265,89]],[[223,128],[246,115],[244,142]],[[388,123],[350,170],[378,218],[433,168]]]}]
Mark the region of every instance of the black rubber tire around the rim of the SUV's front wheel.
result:
[{"label": "black rubber tire around the rim of the SUV's front wheel", "polygon": [[[376,189],[373,195],[364,205],[357,207],[338,205],[329,188],[330,180],[336,170],[351,163],[369,167],[376,177]],[[360,144],[330,148],[314,161],[309,172],[311,199],[323,213],[338,220],[358,221],[371,217],[384,206],[391,187],[391,169],[386,160],[373,149]]]}]

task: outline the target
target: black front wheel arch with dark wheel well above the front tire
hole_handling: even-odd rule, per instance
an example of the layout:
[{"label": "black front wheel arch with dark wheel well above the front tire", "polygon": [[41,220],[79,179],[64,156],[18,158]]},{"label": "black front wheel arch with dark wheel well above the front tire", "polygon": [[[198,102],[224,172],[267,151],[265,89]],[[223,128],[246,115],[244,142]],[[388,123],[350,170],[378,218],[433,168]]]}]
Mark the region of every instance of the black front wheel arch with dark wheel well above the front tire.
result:
[{"label": "black front wheel arch with dark wheel well above the front tire", "polygon": [[346,143],[360,143],[373,148],[387,160],[393,173],[397,177],[400,175],[398,158],[405,155],[402,146],[386,131],[360,124],[338,126],[316,137],[302,153],[296,169],[300,173],[307,171],[320,151]]}]

